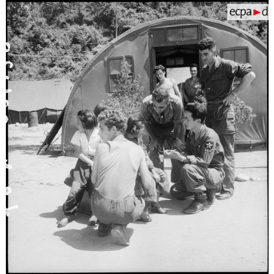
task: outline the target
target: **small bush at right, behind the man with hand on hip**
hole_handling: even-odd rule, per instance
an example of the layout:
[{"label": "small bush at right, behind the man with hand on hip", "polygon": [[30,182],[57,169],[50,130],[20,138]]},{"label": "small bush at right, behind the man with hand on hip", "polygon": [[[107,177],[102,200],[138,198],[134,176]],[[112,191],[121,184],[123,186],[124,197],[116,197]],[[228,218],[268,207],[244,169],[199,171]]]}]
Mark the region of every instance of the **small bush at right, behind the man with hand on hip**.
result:
[{"label": "small bush at right, behind the man with hand on hip", "polygon": [[233,102],[233,108],[236,115],[236,125],[239,127],[239,124],[251,124],[256,114],[252,113],[253,109],[248,107],[244,101],[242,101],[237,95]]}]

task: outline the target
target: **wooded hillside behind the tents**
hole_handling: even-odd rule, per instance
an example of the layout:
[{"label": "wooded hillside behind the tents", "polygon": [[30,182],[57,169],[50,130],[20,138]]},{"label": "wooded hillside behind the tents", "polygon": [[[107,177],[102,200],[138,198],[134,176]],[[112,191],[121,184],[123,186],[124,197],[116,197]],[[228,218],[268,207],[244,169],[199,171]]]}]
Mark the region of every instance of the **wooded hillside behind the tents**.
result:
[{"label": "wooded hillside behind the tents", "polygon": [[[240,27],[267,43],[267,21],[227,21],[227,3],[233,2],[117,2],[118,35],[159,18],[201,16]],[[115,26],[116,2],[7,2],[10,80],[67,77],[75,82],[87,62],[115,38]]]}]

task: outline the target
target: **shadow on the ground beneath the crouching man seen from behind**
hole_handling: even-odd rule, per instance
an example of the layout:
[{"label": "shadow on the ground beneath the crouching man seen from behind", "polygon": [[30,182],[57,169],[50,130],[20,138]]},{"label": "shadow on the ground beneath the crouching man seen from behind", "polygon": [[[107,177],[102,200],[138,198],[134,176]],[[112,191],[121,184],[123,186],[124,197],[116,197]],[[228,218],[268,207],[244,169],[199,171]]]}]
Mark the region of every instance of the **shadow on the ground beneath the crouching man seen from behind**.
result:
[{"label": "shadow on the ground beneath the crouching man seen from behind", "polygon": [[[107,237],[99,237],[98,226],[87,226],[83,229],[66,229],[56,231],[53,235],[60,237],[67,245],[85,251],[115,251],[127,246],[120,246],[115,243],[115,238],[109,234]],[[127,228],[127,234],[131,238],[132,228]]]}]

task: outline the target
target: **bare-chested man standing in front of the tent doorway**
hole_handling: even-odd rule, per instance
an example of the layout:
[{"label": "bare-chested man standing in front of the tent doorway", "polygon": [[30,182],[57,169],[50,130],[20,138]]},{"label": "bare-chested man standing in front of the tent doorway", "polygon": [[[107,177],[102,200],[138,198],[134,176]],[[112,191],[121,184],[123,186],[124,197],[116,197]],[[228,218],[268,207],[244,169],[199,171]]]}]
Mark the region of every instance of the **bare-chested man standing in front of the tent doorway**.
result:
[{"label": "bare-chested man standing in front of the tent doorway", "polygon": [[156,84],[155,88],[162,87],[164,89],[167,89],[169,94],[175,94],[182,99],[181,93],[179,91],[179,88],[172,78],[166,78],[165,77],[165,68],[162,65],[158,65],[153,69],[153,73],[156,74],[156,77],[159,80],[159,83]]}]

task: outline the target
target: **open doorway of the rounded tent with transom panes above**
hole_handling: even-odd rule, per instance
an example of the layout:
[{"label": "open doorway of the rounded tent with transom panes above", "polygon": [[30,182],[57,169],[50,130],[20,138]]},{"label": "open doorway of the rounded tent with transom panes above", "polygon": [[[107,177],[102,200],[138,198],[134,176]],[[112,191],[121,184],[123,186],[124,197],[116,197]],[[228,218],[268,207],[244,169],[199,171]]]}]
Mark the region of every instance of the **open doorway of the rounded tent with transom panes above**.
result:
[{"label": "open doorway of the rounded tent with transom panes above", "polygon": [[176,26],[153,28],[150,33],[151,91],[158,79],[153,68],[163,65],[166,77],[173,78],[181,89],[182,82],[191,77],[190,64],[199,64],[198,42],[202,39],[202,26]]}]

